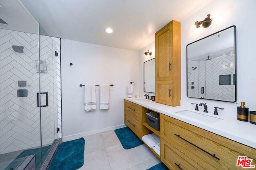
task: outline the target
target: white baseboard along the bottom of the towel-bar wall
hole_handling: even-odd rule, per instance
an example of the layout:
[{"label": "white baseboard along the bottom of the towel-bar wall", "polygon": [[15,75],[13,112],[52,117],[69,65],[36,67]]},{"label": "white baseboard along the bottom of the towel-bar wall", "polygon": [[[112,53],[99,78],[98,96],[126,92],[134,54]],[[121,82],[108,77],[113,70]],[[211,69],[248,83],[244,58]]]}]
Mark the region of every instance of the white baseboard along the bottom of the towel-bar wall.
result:
[{"label": "white baseboard along the bottom of the towel-bar wall", "polygon": [[78,139],[78,138],[88,136],[88,135],[94,135],[94,134],[97,134],[97,133],[112,131],[112,130],[119,129],[119,128],[122,128],[122,127],[126,127],[126,125],[125,124],[117,125],[117,126],[104,128],[104,129],[98,129],[98,130],[95,130],[95,131],[89,131],[89,132],[84,132],[84,133],[78,133],[78,134],[75,134],[75,135],[69,135],[69,136],[62,137],[62,141],[63,142],[70,141],[70,140]]}]

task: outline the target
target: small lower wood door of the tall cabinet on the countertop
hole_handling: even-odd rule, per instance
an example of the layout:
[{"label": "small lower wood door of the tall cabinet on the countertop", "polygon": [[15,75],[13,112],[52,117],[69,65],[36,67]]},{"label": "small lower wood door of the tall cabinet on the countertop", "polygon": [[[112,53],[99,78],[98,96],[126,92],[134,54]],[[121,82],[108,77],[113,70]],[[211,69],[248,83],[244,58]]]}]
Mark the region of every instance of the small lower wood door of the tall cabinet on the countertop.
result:
[{"label": "small lower wood door of the tall cabinet on the countertop", "polygon": [[172,80],[156,81],[156,102],[172,106]]}]

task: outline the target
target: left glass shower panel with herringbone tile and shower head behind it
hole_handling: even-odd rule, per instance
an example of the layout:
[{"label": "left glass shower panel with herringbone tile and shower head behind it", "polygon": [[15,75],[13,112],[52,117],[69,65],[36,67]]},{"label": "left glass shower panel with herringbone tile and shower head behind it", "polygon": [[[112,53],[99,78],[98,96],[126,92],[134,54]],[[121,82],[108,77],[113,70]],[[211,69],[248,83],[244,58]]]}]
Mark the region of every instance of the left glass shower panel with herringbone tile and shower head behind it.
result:
[{"label": "left glass shower panel with herringbone tile and shower head behind it", "polygon": [[9,170],[32,149],[40,152],[38,34],[0,32],[0,169]]}]

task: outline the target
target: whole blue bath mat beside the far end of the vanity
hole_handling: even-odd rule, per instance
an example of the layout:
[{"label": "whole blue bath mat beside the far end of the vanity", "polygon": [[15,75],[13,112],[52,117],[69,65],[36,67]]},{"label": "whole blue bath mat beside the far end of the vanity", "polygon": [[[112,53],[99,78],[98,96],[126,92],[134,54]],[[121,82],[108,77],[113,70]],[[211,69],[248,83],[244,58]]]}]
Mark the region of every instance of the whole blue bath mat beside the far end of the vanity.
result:
[{"label": "whole blue bath mat beside the far end of the vanity", "polygon": [[124,149],[131,149],[143,144],[140,138],[138,138],[129,127],[116,129],[115,133]]}]

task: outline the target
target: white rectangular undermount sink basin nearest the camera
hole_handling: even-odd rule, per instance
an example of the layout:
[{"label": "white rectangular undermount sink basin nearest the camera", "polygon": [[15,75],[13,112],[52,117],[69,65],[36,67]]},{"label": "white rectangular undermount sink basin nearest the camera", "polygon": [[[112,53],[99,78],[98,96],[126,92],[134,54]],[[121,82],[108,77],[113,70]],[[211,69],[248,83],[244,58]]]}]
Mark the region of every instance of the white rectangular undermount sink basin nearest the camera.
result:
[{"label": "white rectangular undermount sink basin nearest the camera", "polygon": [[[202,113],[197,113],[197,112],[189,111],[189,110],[177,111],[176,113],[187,116],[187,117],[191,117],[193,119],[204,121],[204,122],[207,122],[207,123],[216,123],[218,121],[223,120],[223,119],[218,118],[218,117],[213,117],[213,116],[210,116],[210,115],[205,115],[205,114],[202,114]],[[210,114],[210,113],[206,113],[206,114]]]}]

